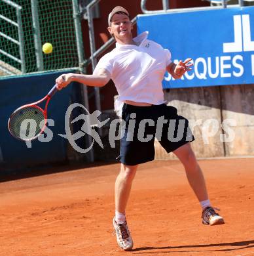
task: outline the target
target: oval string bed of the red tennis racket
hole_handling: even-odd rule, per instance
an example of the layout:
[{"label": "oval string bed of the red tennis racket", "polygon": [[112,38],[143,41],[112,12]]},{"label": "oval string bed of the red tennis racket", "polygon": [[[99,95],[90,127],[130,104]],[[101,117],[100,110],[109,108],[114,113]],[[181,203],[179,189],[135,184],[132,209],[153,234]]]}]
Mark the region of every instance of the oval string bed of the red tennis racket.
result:
[{"label": "oval string bed of the red tennis racket", "polygon": [[43,110],[26,106],[16,110],[9,119],[10,133],[22,140],[31,140],[42,132],[45,125]]}]

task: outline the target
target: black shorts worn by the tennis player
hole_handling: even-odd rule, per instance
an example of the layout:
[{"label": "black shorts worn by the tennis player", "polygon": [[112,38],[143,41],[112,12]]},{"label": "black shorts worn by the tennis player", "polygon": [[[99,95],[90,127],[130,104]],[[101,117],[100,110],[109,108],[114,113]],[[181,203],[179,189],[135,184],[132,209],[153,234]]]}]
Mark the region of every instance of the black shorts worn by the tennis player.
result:
[{"label": "black shorts worn by the tennis player", "polygon": [[137,165],[154,160],[154,138],[168,152],[194,140],[189,121],[166,104],[122,107],[120,162]]}]

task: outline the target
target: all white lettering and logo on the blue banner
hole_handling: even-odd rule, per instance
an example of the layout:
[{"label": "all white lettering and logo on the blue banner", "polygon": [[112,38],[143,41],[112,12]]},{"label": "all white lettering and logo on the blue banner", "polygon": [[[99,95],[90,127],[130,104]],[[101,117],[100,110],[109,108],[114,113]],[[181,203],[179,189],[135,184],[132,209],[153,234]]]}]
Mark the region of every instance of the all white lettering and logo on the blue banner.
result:
[{"label": "all white lettering and logo on the blue banner", "polygon": [[[251,22],[249,14],[234,15],[234,41],[223,43],[223,53],[246,53],[254,51],[254,41],[251,41]],[[175,63],[178,60],[174,60]],[[244,56],[236,54],[234,56],[200,56],[193,60],[194,67],[190,72],[186,72],[181,80],[188,79],[216,79],[218,77],[242,77],[244,75]],[[249,62],[248,62],[249,63]],[[249,70],[249,67],[248,69]],[[254,76],[254,54],[251,55],[251,75]],[[166,81],[174,81],[173,77],[165,74]]]}]

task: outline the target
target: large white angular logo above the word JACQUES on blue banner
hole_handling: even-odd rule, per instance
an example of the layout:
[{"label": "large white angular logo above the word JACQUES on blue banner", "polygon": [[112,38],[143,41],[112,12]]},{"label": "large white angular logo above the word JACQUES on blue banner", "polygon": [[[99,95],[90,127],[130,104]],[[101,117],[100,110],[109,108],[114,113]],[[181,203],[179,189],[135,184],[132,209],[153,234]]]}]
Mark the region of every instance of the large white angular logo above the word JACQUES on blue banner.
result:
[{"label": "large white angular logo above the word JACQUES on blue banner", "polygon": [[251,41],[251,25],[249,22],[249,14],[234,15],[233,19],[234,42],[223,43],[223,53],[254,51],[254,41]]}]

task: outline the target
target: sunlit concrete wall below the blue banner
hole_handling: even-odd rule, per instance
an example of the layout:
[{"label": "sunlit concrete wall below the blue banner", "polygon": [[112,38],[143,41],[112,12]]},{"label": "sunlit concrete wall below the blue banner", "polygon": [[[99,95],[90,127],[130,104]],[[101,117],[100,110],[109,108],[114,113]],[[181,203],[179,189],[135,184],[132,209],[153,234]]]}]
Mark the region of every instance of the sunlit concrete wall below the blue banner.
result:
[{"label": "sunlit concrete wall below the blue banner", "polygon": [[[254,86],[234,85],[165,90],[166,100],[181,116],[191,119],[198,158],[254,155]],[[222,129],[222,123],[229,129]],[[194,126],[194,123],[197,123]],[[236,126],[232,126],[236,125]],[[230,133],[231,132],[231,133]],[[223,133],[234,135],[223,142]],[[173,159],[155,142],[156,159]]]}]

